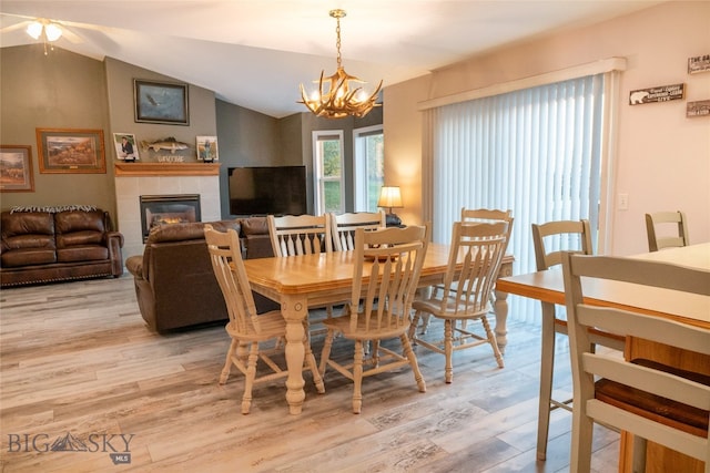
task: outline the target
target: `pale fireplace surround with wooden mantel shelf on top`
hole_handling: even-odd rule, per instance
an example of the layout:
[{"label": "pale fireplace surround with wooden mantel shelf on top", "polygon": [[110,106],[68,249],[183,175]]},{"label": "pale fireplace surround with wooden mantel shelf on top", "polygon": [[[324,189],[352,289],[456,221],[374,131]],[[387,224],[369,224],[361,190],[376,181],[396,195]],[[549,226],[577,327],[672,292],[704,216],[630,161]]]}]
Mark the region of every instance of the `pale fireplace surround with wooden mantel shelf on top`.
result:
[{"label": "pale fireplace surround with wooden mantel shelf on top", "polygon": [[115,164],[116,225],[123,260],[143,254],[141,195],[200,195],[202,222],[221,219],[219,163]]}]

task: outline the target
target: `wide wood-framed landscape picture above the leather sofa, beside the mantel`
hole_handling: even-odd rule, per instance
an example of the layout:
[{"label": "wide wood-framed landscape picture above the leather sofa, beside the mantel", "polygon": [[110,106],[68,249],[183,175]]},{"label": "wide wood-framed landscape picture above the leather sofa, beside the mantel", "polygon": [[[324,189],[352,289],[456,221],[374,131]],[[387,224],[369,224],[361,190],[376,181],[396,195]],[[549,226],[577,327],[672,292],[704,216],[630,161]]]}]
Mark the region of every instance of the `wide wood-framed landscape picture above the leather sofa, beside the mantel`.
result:
[{"label": "wide wood-framed landscape picture above the leather sofa, beside the mantel", "polygon": [[102,130],[37,128],[40,173],[105,174]]}]

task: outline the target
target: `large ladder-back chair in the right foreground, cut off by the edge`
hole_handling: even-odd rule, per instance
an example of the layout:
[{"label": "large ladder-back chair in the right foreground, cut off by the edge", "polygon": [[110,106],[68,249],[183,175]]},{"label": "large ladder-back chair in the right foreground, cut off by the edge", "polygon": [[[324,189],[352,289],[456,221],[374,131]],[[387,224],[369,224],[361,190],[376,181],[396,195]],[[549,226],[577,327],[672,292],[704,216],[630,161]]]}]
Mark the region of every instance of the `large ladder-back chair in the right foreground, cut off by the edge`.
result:
[{"label": "large ladder-back chair in the right foreground, cut off by the edge", "polygon": [[[572,254],[564,255],[562,268],[575,395],[570,471],[590,471],[596,422],[633,435],[635,472],[646,471],[646,446],[650,441],[703,461],[704,472],[710,473],[710,376],[658,360],[596,353],[590,329],[706,356],[710,356],[710,330],[670,318],[585,304],[581,285],[584,277],[707,297],[710,271],[660,261]],[[679,465],[677,471],[681,470]]]}]

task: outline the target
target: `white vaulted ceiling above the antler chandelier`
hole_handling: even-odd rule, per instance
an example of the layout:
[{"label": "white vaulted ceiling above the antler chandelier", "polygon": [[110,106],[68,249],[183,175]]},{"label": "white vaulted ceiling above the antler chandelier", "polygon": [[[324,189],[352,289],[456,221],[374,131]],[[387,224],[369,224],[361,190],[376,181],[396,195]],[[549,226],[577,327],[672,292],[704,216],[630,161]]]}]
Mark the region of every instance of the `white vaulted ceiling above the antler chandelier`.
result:
[{"label": "white vaulted ceiling above the antler chandelier", "polygon": [[[282,117],[305,111],[298,84],[345,70],[392,85],[503,44],[648,8],[645,0],[2,0],[0,44],[37,42],[28,18],[69,30],[55,44],[111,56]],[[10,31],[6,31],[6,30]],[[73,33],[73,34],[72,34]],[[70,41],[73,40],[73,41]],[[50,52],[51,54],[51,52]]]}]

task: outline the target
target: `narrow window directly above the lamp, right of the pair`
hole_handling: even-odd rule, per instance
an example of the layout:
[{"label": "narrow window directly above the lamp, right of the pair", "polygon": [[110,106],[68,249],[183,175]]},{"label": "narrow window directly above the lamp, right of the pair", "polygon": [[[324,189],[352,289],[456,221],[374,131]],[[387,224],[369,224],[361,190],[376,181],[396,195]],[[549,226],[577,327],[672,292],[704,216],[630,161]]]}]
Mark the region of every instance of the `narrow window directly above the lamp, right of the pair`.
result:
[{"label": "narrow window directly above the lamp, right of the pair", "polygon": [[355,147],[355,212],[377,212],[379,189],[385,184],[385,135],[383,126],[353,131]]}]

